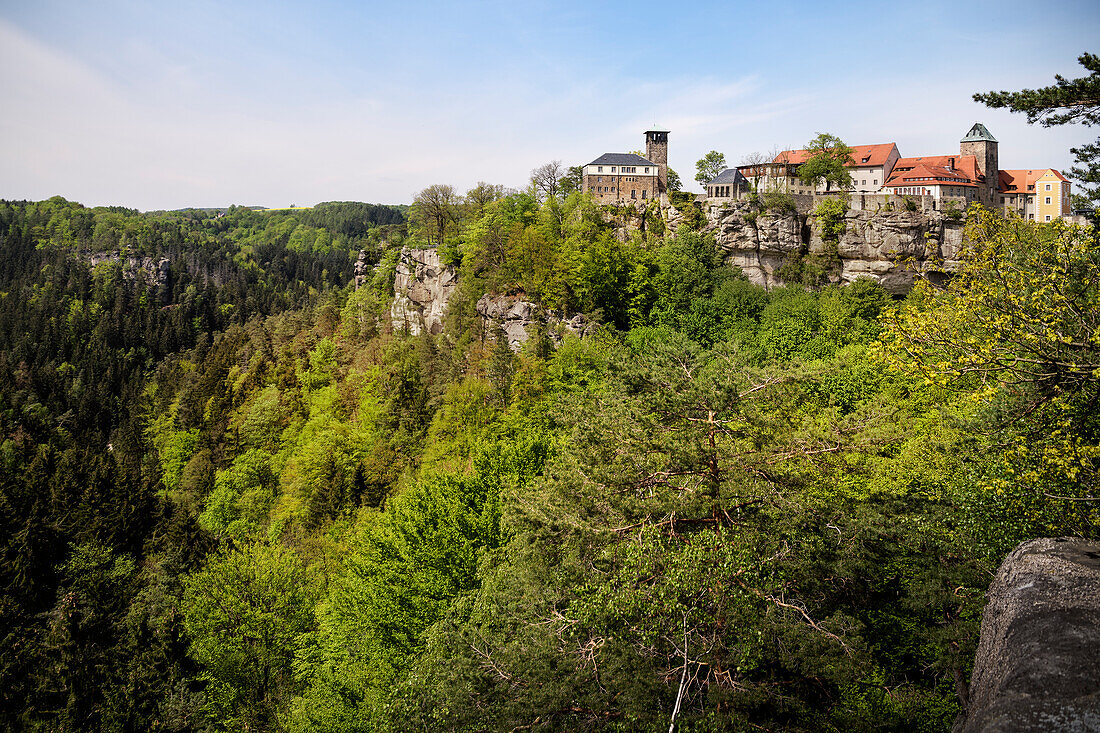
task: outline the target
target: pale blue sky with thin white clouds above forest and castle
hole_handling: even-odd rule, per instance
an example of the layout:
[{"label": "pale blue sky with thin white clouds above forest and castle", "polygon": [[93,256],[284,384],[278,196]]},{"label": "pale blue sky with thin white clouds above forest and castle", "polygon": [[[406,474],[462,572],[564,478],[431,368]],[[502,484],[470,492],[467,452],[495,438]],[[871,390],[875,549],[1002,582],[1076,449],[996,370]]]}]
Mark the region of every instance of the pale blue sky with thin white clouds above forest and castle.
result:
[{"label": "pale blue sky with thin white clouds above forest and castle", "polygon": [[685,182],[817,132],[1066,168],[975,91],[1079,76],[1100,3],[0,1],[0,197],[141,209],[521,187],[671,130]]}]

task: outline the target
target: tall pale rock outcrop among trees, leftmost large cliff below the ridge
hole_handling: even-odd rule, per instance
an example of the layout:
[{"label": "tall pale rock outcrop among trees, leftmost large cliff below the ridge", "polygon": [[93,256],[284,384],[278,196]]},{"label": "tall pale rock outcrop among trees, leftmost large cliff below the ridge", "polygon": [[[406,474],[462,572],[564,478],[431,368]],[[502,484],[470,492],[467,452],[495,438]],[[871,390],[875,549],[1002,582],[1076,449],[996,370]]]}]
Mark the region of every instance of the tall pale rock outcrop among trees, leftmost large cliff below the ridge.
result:
[{"label": "tall pale rock outcrop among trees, leftmost large cliff below the ridge", "polygon": [[413,336],[441,332],[447,302],[458,284],[454,267],[440,261],[438,250],[403,249],[389,307],[394,330],[408,328]]}]

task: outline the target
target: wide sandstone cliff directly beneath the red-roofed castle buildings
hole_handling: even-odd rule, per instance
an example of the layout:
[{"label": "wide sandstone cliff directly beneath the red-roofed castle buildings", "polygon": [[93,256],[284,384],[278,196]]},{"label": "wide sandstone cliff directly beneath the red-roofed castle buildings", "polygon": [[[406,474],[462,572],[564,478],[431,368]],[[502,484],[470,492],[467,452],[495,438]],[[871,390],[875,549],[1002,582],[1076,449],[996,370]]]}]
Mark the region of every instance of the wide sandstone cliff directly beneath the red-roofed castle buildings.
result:
[{"label": "wide sandstone cliff directly beneath the red-roofed castle buildings", "polygon": [[831,282],[871,277],[895,295],[909,292],[917,273],[952,272],[963,241],[963,222],[939,211],[865,209],[845,215],[834,245],[822,241],[812,215],[758,214],[747,201],[712,209],[706,229],[726,250],[726,262],[758,285],[782,285],[784,263],[816,255]]}]

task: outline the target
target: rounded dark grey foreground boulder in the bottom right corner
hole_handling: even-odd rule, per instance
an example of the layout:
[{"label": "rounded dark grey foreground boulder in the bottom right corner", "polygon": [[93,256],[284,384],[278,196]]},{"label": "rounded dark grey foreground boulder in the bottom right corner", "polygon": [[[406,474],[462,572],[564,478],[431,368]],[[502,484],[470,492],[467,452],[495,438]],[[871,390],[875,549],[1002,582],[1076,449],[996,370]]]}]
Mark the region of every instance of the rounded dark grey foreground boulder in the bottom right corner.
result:
[{"label": "rounded dark grey foreground boulder in the bottom right corner", "polygon": [[1023,543],[989,589],[955,733],[1100,731],[1100,543]]}]

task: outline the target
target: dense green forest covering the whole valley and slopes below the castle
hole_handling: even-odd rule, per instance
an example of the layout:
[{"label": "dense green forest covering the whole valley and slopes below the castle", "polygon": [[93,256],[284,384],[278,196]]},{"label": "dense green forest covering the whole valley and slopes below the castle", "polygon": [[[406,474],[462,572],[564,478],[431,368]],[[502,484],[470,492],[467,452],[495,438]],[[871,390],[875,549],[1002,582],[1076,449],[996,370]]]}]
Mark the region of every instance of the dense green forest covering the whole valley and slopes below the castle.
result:
[{"label": "dense green forest covering the whole valley and slopes below the castle", "polygon": [[1094,230],[975,208],[895,302],[448,189],[0,203],[0,726],[947,731],[1000,560],[1100,537]]}]

